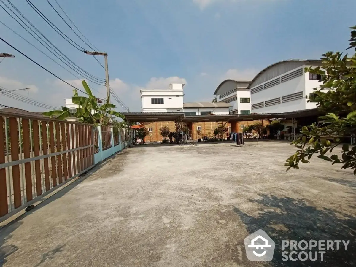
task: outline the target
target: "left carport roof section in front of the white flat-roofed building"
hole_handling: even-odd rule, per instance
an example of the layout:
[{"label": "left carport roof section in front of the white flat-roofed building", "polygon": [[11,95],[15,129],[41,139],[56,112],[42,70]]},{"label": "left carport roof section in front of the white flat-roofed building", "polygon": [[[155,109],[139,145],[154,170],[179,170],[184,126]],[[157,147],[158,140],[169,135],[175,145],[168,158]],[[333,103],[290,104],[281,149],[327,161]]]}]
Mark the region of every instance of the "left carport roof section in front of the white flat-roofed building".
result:
[{"label": "left carport roof section in front of the white flat-roofed building", "polygon": [[182,112],[126,112],[122,113],[131,122],[180,121],[184,118]]}]

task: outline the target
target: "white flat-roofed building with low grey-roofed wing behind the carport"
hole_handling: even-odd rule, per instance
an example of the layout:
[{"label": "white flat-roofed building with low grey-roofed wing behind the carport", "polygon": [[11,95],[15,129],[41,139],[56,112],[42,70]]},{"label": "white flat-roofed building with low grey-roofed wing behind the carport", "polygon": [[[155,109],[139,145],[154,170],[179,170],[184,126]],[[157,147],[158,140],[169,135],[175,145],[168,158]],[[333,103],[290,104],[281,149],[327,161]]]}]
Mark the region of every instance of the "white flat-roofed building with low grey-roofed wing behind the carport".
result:
[{"label": "white flat-roofed building with low grey-roofed wing behind the carport", "polygon": [[229,114],[228,103],[184,103],[183,86],[173,83],[168,89],[142,89],[142,112],[184,112],[187,116]]}]

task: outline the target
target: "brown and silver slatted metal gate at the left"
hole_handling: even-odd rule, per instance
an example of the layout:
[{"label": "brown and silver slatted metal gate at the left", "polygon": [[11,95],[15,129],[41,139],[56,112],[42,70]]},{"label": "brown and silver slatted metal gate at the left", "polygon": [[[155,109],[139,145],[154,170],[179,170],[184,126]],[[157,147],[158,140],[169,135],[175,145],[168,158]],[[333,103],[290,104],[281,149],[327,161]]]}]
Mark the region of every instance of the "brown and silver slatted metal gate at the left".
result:
[{"label": "brown and silver slatted metal gate at the left", "polygon": [[0,111],[0,221],[94,166],[93,125]]}]

